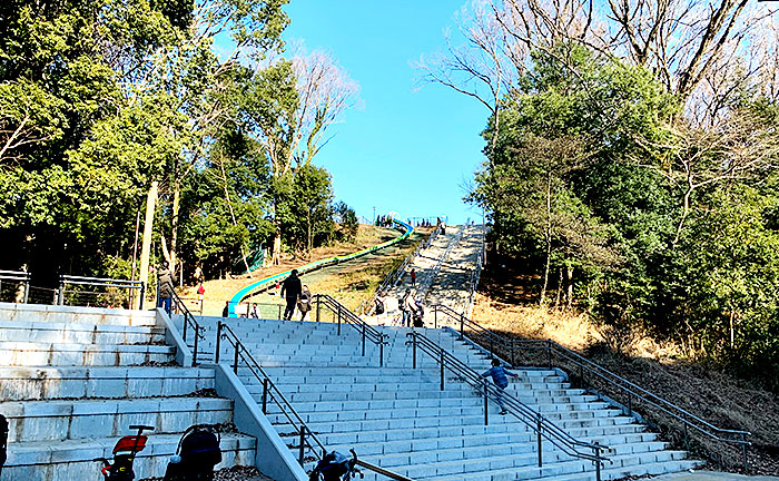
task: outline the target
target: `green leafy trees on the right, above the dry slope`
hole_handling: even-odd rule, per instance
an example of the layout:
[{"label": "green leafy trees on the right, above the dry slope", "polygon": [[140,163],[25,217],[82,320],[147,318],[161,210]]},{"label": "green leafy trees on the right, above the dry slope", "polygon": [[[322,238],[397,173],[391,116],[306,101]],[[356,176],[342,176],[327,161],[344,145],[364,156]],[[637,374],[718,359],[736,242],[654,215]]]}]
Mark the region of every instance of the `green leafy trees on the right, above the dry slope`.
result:
[{"label": "green leafy trees on the right, above the dry slope", "polygon": [[532,58],[484,132],[496,140],[470,195],[497,248],[531,261],[542,303],[556,287],[555,304],[604,331],[648,328],[743,373],[760,364],[779,389],[776,107],[742,96],[704,131],[640,67],[575,45]]}]

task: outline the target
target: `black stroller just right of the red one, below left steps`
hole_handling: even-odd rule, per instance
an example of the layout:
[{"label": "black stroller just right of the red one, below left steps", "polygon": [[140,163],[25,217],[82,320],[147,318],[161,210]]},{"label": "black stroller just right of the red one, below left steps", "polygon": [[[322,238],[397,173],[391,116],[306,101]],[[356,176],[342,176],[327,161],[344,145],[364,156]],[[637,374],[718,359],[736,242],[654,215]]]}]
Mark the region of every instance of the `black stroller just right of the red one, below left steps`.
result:
[{"label": "black stroller just right of the red one, below left steps", "polygon": [[218,425],[189,426],[170,458],[164,481],[211,481],[214,467],[221,462]]}]

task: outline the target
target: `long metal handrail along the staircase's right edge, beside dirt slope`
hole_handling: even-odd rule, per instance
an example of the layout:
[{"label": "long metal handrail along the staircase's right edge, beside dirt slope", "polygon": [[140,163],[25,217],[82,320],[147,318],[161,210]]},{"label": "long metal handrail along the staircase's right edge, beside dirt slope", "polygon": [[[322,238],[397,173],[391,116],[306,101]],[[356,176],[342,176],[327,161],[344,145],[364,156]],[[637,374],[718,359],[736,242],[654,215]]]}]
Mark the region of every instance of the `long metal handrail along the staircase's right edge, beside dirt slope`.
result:
[{"label": "long metal handrail along the staircase's right edge, beside dirt slope", "polygon": [[[663,399],[660,397],[659,395],[647,391],[645,389],[641,387],[640,385],[620,376],[619,374],[615,374],[608,369],[588,360],[586,357],[582,356],[579,353],[575,353],[571,351],[570,349],[552,341],[552,340],[514,340],[514,338],[507,338],[504,336],[501,336],[500,334],[496,334],[495,332],[482,326],[481,324],[476,323],[475,321],[472,321],[467,318],[466,316],[453,311],[452,308],[437,304],[432,306],[432,310],[434,312],[434,323],[437,326],[437,313],[442,312],[443,314],[453,317],[456,320],[456,322],[460,323],[460,335],[461,336],[466,336],[466,331],[465,326],[467,326],[470,330],[473,330],[474,332],[477,333],[477,335],[483,335],[487,338],[489,345],[490,345],[490,354],[494,355],[496,353],[495,347],[501,349],[504,353],[509,354],[507,359],[510,360],[510,363],[512,365],[515,365],[515,355],[517,354],[517,350],[545,350],[546,351],[546,360],[548,360],[548,365],[549,367],[552,367],[553,362],[552,362],[552,356],[553,354],[559,355],[562,359],[565,359],[579,367],[580,371],[580,377],[582,381],[584,381],[584,371],[588,373],[594,375],[595,377],[602,380],[605,382],[607,385],[613,386],[623,394],[627,394],[627,408],[625,413],[629,415],[632,415],[633,412],[633,397],[637,397],[638,400],[641,400],[648,404],[653,405],[654,408],[659,409],[660,411],[664,412],[665,414],[670,415],[671,418],[676,419],[677,421],[681,422],[683,433],[684,433],[684,439],[688,438],[688,429],[693,429],[701,434],[707,435],[708,438],[719,441],[719,442],[726,442],[726,443],[732,443],[737,445],[741,445],[741,457],[742,457],[742,463],[743,463],[743,470],[745,472],[749,471],[749,462],[747,459],[747,446],[751,445],[752,443],[747,440],[747,436],[751,435],[749,431],[743,431],[743,430],[728,430],[723,428],[718,428],[710,422],[701,419],[700,416],[697,416],[696,414],[690,413],[689,411],[684,410],[683,408]],[[473,336],[471,340],[472,342],[475,342],[477,344],[480,343],[480,340],[477,336]],[[486,346],[485,346],[486,347]],[[691,422],[693,421],[693,422]],[[733,434],[737,438],[723,438],[718,435],[719,434]]]}]

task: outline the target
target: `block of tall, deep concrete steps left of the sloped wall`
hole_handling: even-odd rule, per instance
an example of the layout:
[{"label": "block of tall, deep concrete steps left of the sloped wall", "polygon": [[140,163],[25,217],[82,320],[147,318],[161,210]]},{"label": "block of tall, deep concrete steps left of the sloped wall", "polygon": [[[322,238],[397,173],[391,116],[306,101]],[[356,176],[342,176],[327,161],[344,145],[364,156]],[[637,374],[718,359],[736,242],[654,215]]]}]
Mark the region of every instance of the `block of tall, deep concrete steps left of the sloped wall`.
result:
[{"label": "block of tall, deep concrete steps left of the sloped wall", "polygon": [[[230,425],[214,370],[178,367],[155,312],[0,303],[0,413],[10,424],[3,481],[98,479],[130,424],[154,425],[136,479],[161,477],[180,433]],[[255,439],[221,438],[223,464],[254,464]]]}]

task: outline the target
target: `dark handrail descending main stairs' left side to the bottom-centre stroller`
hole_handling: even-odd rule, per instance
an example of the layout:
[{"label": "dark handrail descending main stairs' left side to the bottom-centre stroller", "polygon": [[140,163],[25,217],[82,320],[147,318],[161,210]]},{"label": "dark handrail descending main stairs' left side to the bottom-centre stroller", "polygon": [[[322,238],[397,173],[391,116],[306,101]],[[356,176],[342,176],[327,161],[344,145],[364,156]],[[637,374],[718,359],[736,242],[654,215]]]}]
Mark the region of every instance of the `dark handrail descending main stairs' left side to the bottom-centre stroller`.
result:
[{"label": "dark handrail descending main stairs' left side to the bottom-centre stroller", "polygon": [[[238,367],[243,365],[248,369],[252,376],[254,376],[263,386],[263,396],[260,401],[263,414],[268,414],[268,401],[272,401],[276,404],[276,406],[278,406],[284,418],[286,418],[288,423],[295,430],[294,435],[297,436],[299,441],[297,445],[297,462],[300,463],[302,467],[304,465],[306,461],[306,449],[314,454],[315,459],[322,460],[322,458],[327,454],[327,448],[325,444],[319,440],[319,438],[317,438],[316,433],[308,428],[305,421],[303,421],[303,418],[300,418],[300,415],[295,411],[289,401],[287,401],[276,384],[274,384],[270,376],[268,376],[265,370],[263,370],[263,366],[257,362],[257,360],[254,359],[252,353],[240,342],[230,326],[221,321],[217,323],[216,328],[216,351],[214,362],[217,364],[219,363],[223,340],[233,346],[233,372],[237,375]],[[357,464],[396,481],[413,481],[410,478],[387,471],[384,468],[379,468],[362,460],[357,460]]]}]

